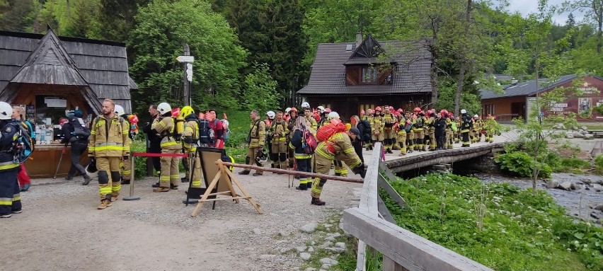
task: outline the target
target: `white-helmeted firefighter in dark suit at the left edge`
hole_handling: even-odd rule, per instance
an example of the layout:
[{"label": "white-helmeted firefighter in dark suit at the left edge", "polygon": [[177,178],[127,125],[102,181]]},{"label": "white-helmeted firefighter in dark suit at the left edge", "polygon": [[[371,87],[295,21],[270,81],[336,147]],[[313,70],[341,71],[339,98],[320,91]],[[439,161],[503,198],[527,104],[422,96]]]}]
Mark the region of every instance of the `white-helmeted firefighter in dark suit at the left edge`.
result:
[{"label": "white-helmeted firefighter in dark suit at the left edge", "polygon": [[0,102],[0,218],[21,213],[21,193],[17,173],[21,166],[12,153],[16,139],[16,125],[12,125],[13,108]]}]

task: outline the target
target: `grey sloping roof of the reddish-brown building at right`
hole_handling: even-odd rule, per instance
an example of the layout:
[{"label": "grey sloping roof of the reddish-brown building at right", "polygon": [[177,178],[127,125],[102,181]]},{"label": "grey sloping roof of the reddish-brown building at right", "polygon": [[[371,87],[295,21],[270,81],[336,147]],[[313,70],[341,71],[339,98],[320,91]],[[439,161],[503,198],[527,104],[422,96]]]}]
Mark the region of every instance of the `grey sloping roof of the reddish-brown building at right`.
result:
[{"label": "grey sloping roof of the reddish-brown building at right", "polygon": [[[539,79],[539,91],[547,91],[552,88],[563,85],[575,79],[575,74],[560,76],[557,81],[550,82],[549,79]],[[482,99],[507,98],[516,96],[534,96],[539,91],[536,90],[536,80],[518,82],[503,86],[503,93],[495,93],[488,89],[480,89]]]}]

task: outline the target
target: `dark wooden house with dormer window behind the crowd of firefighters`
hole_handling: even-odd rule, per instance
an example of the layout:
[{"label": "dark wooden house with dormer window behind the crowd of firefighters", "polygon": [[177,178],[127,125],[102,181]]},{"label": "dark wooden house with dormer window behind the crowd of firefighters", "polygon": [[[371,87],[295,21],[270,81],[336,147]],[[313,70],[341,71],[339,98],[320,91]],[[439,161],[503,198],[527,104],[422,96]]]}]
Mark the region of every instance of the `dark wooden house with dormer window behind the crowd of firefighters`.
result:
[{"label": "dark wooden house with dormer window behind the crowd of firefighters", "polygon": [[425,40],[321,43],[307,86],[297,91],[314,108],[342,117],[379,105],[408,110],[431,103],[432,60]]}]

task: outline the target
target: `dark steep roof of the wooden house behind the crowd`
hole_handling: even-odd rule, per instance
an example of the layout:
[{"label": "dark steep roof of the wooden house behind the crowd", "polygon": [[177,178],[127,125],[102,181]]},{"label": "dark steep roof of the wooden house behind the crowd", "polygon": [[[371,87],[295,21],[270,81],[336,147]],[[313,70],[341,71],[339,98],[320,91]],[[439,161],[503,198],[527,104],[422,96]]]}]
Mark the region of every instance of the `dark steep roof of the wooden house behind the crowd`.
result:
[{"label": "dark steep roof of the wooden house behind the crowd", "polygon": [[[367,42],[371,46],[367,46]],[[348,86],[345,81],[345,65],[377,63],[394,64],[391,83]],[[308,85],[297,91],[298,94],[308,96],[431,92],[431,52],[426,40],[377,42],[370,35],[358,48],[355,42],[318,44]]]}]

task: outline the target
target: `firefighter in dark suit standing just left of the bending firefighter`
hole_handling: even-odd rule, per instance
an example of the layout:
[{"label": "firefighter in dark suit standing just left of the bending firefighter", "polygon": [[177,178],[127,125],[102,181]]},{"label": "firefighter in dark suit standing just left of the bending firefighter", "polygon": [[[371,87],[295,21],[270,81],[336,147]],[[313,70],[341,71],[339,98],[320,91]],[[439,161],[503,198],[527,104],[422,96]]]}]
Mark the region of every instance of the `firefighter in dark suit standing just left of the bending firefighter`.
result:
[{"label": "firefighter in dark suit standing just left of the bending firefighter", "polygon": [[[311,160],[312,155],[304,152],[304,131],[306,131],[306,119],[304,117],[297,117],[295,119],[295,125],[293,128],[293,136],[289,141],[289,148],[293,149],[295,161],[297,163],[297,171],[312,172]],[[312,185],[311,178],[306,176],[300,176],[299,186],[297,190],[308,190]]]}]

